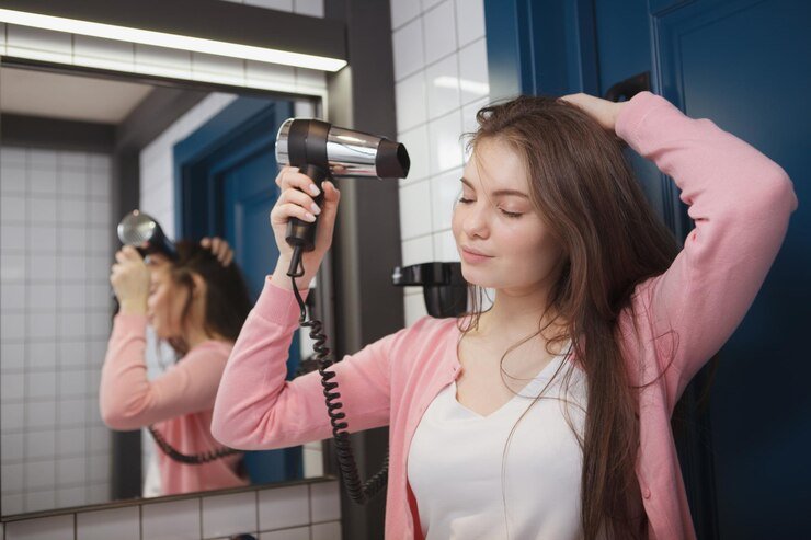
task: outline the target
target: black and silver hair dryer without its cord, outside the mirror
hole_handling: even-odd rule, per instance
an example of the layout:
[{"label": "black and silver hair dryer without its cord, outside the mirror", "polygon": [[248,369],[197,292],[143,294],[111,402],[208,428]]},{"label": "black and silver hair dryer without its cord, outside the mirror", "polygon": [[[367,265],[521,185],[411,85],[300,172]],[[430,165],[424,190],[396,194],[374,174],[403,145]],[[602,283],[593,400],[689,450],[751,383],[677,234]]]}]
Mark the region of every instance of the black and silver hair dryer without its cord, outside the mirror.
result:
[{"label": "black and silver hair dryer without its cord, outside the mirror", "polygon": [[[276,162],[297,166],[319,188],[334,176],[404,179],[411,164],[406,147],[399,142],[306,118],[288,118],[278,128]],[[323,193],[316,197],[317,205],[322,203]],[[295,249],[290,273],[299,276],[296,268],[300,253],[316,246],[316,223],[293,218],[285,237]]]}]

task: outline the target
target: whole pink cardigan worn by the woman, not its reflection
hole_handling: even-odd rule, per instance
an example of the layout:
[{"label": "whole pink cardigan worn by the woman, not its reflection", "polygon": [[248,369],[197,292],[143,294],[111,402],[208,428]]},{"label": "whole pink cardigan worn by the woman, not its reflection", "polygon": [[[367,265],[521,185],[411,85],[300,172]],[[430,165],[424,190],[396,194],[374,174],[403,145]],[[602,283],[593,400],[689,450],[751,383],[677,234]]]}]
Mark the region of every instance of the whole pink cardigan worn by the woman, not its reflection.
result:
[{"label": "whole pink cardigan worn by the woman, not its reflection", "polygon": [[[636,288],[636,320],[630,310],[619,318],[632,382],[654,381],[639,392],[637,463],[650,538],[695,538],[671,413],[752,303],[797,198],[786,173],[765,156],[651,93],[630,101],[616,131],[675,180],[696,222],[673,265]],[[217,439],[278,448],[330,437],[318,372],[284,380],[298,313],[293,294],[269,280],[222,376],[212,424]],[[426,317],[334,367],[350,428],[390,426],[386,538],[420,535],[406,459],[423,412],[459,374],[458,338],[455,320]]]}]

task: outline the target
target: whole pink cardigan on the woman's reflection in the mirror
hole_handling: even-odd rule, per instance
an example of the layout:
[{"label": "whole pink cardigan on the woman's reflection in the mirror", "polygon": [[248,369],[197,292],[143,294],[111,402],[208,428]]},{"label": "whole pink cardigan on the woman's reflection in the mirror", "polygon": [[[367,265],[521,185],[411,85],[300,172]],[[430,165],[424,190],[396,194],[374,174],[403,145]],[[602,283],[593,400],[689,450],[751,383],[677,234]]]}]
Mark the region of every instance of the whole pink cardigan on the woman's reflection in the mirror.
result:
[{"label": "whole pink cardigan on the woman's reflection in the mirror", "polygon": [[[212,437],[212,407],[231,344],[204,342],[150,381],[145,363],[146,326],[146,317],[115,318],[99,392],[104,423],[121,430],[155,424],[183,453],[220,448]],[[248,484],[236,472],[240,455],[191,466],[171,460],[157,447],[155,451],[163,495]]]}]

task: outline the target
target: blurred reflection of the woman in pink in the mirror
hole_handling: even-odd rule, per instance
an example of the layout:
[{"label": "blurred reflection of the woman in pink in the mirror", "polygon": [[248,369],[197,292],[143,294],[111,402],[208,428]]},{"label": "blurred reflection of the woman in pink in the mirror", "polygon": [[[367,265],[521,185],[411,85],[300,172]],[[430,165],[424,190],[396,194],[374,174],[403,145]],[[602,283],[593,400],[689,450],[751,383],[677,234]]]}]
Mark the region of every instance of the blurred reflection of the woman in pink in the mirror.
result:
[{"label": "blurred reflection of the woman in pink in the mirror", "polygon": [[[102,369],[104,423],[119,430],[152,426],[184,455],[222,445],[210,435],[212,409],[222,370],[250,299],[224,241],[178,242],[178,260],[152,254],[147,262],[125,246],[115,255],[110,282],[121,310],[115,317]],[[147,324],[174,349],[178,363],[149,380]],[[171,459],[156,448],[145,496],[247,485],[241,453],[202,464]],[[157,467],[156,467],[157,464]],[[156,474],[156,471],[158,473]]]}]

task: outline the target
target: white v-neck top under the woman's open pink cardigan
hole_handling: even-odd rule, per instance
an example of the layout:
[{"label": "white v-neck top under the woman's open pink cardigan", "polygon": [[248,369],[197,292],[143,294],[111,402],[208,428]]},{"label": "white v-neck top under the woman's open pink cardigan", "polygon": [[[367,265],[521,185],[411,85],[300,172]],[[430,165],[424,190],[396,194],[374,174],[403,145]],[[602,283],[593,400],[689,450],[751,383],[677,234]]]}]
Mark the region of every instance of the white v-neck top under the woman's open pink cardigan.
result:
[{"label": "white v-neck top under the woman's open pink cardigan", "polygon": [[[555,357],[487,416],[456,400],[456,382],[431,402],[408,456],[408,479],[427,540],[582,538],[582,452],[563,410],[582,436],[587,394],[580,368],[572,369],[567,384],[563,361],[563,355]],[[562,399],[566,389],[569,403]]]}]

